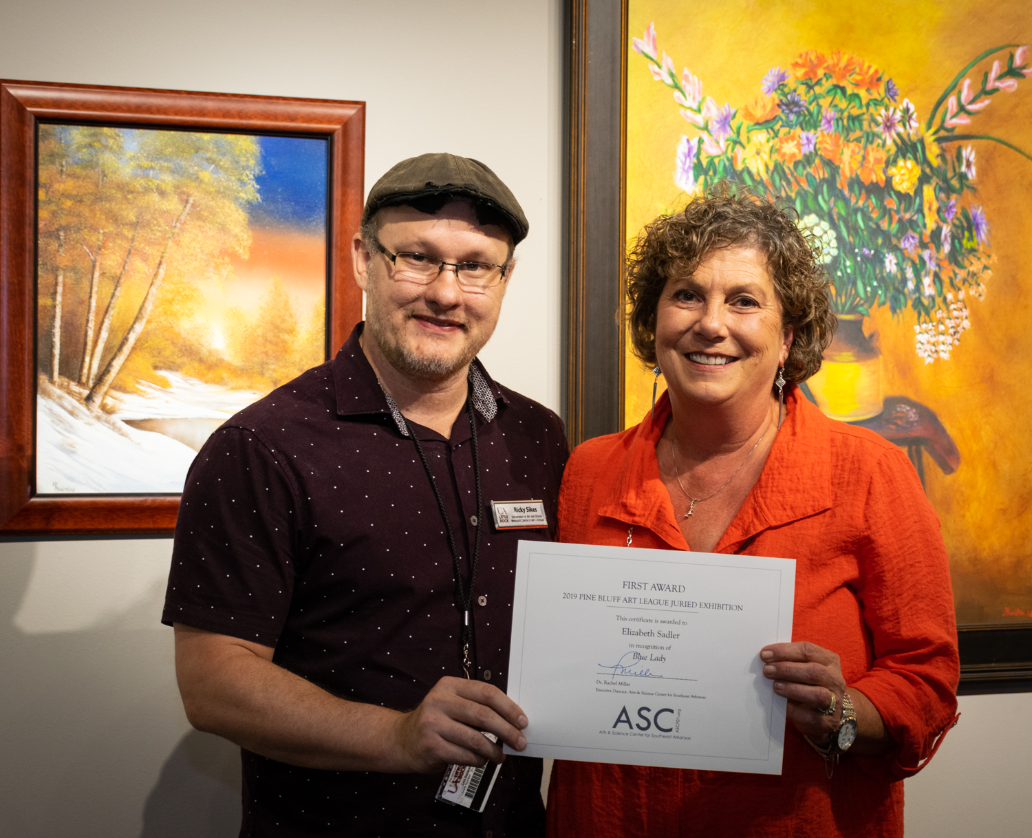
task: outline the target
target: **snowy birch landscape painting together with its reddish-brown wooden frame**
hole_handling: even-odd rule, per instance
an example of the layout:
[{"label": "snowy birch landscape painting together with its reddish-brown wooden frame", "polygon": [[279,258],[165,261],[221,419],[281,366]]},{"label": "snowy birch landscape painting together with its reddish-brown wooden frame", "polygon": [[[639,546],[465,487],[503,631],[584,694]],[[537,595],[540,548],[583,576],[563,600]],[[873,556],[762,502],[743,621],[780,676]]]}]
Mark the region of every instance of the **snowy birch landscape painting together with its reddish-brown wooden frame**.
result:
[{"label": "snowy birch landscape painting together with its reddish-brown wooden frame", "polygon": [[360,319],[363,106],[4,83],[8,533],[169,531],[187,469]]}]

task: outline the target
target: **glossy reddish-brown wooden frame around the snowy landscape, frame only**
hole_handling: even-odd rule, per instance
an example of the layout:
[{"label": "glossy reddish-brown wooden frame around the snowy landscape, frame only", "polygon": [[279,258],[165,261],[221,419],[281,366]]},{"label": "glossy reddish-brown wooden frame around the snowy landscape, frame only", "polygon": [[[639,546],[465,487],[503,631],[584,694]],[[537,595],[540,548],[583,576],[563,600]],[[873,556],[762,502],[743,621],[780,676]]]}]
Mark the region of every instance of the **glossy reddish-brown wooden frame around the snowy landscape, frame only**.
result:
[{"label": "glossy reddish-brown wooden frame around the snowy landscape, frame only", "polygon": [[0,80],[0,534],[171,533],[179,495],[37,495],[36,137],[45,123],[328,140],[327,349],[361,319],[350,238],[363,201],[363,102]]}]

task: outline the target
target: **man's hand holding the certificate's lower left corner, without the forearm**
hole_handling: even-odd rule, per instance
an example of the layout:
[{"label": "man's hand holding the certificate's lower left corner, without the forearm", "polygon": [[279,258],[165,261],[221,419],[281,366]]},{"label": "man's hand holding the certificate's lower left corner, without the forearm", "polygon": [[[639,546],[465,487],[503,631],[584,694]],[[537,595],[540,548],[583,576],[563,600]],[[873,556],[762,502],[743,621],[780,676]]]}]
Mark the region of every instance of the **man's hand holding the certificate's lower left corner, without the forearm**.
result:
[{"label": "man's hand holding the certificate's lower left corner, without the forearm", "polygon": [[436,773],[445,766],[501,763],[502,746],[481,731],[494,734],[514,750],[526,747],[520,733],[527,724],[519,706],[491,684],[465,678],[442,678],[419,706],[394,724],[396,746],[410,770]]}]

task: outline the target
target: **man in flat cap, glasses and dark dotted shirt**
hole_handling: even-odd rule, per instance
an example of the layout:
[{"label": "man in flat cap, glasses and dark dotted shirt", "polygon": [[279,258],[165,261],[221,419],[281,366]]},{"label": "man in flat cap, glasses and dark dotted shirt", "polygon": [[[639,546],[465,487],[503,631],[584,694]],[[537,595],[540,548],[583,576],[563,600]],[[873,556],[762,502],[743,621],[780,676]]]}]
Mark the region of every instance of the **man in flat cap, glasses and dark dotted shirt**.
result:
[{"label": "man in flat cap, glasses and dark dotted shirt", "polygon": [[[352,243],[364,324],[194,461],[162,620],[191,723],[243,748],[241,835],[543,834],[541,761],[501,744],[516,542],[550,538],[567,443],[476,360],[526,232],[482,163],[394,166]],[[498,528],[530,498],[543,528]],[[482,815],[434,800],[503,761]]]}]

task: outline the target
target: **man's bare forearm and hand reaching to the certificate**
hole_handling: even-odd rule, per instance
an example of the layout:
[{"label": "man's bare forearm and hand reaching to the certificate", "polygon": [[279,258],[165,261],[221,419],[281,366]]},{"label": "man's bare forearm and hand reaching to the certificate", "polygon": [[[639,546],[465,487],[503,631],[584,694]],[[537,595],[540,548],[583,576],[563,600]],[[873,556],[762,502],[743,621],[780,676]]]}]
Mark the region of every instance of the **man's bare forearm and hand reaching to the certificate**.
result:
[{"label": "man's bare forearm and hand reaching to the certificate", "polygon": [[409,713],[332,696],[272,663],[273,649],[175,623],[175,674],[190,723],[255,753],[330,771],[433,773],[526,747],[526,716],[501,689],[442,678]]}]

